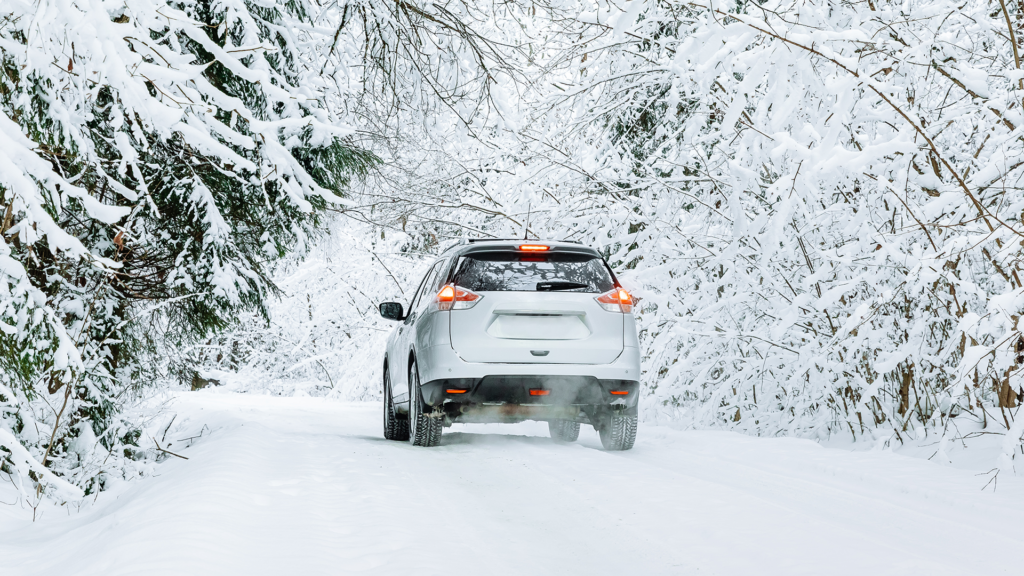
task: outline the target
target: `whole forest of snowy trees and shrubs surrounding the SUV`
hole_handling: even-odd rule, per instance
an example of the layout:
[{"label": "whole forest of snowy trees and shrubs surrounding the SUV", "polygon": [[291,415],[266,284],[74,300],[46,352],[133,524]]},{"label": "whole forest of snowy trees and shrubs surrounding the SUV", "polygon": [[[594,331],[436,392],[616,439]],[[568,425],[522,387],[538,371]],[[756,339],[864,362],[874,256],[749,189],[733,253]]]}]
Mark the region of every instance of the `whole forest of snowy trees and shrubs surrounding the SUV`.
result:
[{"label": "whole forest of snowy trees and shrubs surrounding the SUV", "polygon": [[6,0],[3,478],[142,474],[205,378],[379,398],[376,304],[524,232],[641,298],[642,419],[1012,470],[1022,57],[1022,0]]}]

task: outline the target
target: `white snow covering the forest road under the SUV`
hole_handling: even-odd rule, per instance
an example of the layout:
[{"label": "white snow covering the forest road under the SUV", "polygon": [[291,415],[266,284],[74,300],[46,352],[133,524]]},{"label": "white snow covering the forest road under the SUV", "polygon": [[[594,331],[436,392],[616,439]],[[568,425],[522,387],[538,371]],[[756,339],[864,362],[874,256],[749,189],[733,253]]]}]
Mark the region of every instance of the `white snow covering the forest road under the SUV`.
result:
[{"label": "white snow covering the forest road under the SUV", "polygon": [[[643,426],[387,442],[377,404],[181,394],[210,433],[79,511],[0,506],[4,576],[1020,574],[1024,482],[888,451]],[[7,493],[0,500],[9,501]],[[967,530],[965,530],[967,528]]]}]

